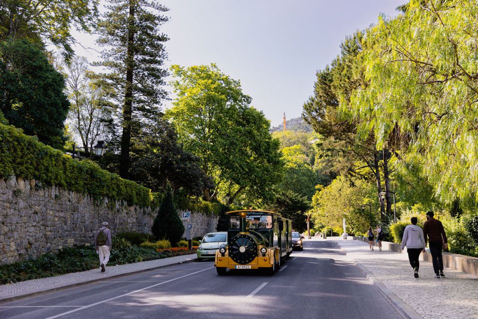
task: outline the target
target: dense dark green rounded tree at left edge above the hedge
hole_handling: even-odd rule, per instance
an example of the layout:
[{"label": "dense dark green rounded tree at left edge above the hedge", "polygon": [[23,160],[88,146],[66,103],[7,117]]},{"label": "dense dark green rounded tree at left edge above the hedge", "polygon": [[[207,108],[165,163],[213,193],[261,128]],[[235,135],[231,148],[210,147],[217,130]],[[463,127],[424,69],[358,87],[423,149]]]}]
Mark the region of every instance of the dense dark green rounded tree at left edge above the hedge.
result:
[{"label": "dense dark green rounded tree at left edge above the hedge", "polygon": [[25,39],[0,42],[0,111],[9,124],[60,148],[69,109],[64,90],[42,47]]}]

